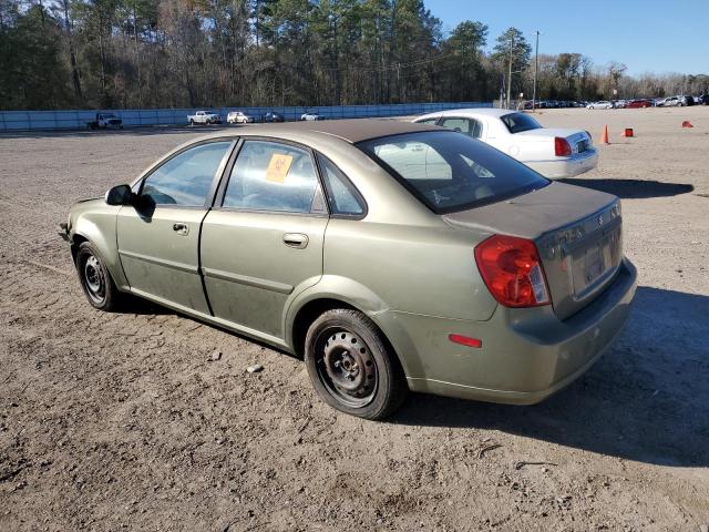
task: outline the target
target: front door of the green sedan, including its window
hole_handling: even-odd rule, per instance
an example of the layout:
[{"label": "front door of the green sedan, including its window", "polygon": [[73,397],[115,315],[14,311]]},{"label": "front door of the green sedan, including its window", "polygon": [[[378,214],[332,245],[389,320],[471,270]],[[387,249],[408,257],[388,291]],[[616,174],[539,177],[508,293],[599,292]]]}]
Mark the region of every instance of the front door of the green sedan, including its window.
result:
[{"label": "front door of the green sedan, including its window", "polygon": [[138,295],[209,314],[198,270],[199,227],[215,176],[234,142],[216,140],[176,153],[137,185],[116,221],[121,264]]}]

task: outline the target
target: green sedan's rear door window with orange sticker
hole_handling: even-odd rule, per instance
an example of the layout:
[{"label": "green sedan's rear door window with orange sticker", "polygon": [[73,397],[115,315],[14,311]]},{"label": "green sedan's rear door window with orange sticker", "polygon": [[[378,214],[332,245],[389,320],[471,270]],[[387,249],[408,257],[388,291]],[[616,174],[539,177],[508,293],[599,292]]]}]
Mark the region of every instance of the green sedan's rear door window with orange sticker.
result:
[{"label": "green sedan's rear door window with orange sticker", "polygon": [[322,195],[310,153],[277,142],[246,141],[234,164],[223,206],[322,212]]}]

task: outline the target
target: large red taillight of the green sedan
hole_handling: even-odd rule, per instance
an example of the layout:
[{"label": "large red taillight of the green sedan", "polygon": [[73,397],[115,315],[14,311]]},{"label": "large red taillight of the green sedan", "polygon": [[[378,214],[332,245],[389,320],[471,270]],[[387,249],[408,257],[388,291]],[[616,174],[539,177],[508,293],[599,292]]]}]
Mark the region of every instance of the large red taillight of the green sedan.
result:
[{"label": "large red taillight of the green sedan", "polygon": [[544,267],[532,241],[493,235],[475,247],[477,269],[487,289],[505,307],[551,303]]}]

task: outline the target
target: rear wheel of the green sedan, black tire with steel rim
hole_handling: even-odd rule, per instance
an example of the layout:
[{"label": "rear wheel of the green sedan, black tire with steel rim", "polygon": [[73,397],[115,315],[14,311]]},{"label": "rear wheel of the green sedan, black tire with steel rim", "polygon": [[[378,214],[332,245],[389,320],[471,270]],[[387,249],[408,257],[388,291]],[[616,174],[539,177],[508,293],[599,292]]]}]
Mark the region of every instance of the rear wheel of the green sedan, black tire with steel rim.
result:
[{"label": "rear wheel of the green sedan, black tire with steel rim", "polygon": [[336,308],[316,319],[306,335],[305,360],[320,398],[352,416],[383,419],[409,391],[395,354],[358,310]]}]

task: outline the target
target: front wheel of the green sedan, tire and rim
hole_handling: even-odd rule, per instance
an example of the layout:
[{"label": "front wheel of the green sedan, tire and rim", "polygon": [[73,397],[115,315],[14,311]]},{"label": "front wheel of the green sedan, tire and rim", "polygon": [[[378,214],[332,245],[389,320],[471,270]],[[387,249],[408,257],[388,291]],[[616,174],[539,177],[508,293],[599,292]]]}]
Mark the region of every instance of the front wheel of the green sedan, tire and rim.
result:
[{"label": "front wheel of the green sedan, tire and rim", "polygon": [[76,273],[84,295],[92,307],[112,313],[121,304],[121,293],[103,259],[90,242],[84,242],[76,252]]}]

